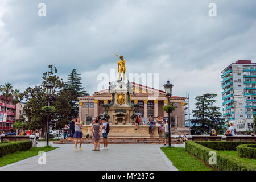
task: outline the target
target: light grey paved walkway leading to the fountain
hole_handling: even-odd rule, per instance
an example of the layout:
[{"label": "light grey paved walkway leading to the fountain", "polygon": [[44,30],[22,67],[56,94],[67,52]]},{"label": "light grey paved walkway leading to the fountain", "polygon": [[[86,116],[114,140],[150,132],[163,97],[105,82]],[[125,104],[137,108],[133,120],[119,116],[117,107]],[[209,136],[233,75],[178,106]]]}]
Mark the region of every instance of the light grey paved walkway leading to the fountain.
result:
[{"label": "light grey paved walkway leading to the fountain", "polygon": [[[38,146],[45,146],[39,142]],[[74,151],[73,144],[53,144],[59,147],[46,152],[46,164],[38,164],[39,156],[34,156],[0,168],[3,170],[109,170],[109,171],[176,171],[164,155],[162,145],[110,144],[109,150],[92,151],[92,144],[83,144],[84,150]],[[102,145],[101,145],[102,147]],[[184,147],[184,146],[183,146]]]}]

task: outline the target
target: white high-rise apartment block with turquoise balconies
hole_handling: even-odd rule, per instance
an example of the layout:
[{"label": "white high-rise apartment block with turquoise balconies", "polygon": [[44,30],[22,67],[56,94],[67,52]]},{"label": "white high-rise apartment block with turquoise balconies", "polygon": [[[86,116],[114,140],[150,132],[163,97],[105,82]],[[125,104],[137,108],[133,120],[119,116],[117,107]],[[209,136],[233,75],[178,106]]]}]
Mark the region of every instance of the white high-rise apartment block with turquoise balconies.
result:
[{"label": "white high-rise apartment block with turquoise balconies", "polygon": [[223,117],[237,132],[252,131],[256,114],[256,63],[238,60],[221,72]]}]

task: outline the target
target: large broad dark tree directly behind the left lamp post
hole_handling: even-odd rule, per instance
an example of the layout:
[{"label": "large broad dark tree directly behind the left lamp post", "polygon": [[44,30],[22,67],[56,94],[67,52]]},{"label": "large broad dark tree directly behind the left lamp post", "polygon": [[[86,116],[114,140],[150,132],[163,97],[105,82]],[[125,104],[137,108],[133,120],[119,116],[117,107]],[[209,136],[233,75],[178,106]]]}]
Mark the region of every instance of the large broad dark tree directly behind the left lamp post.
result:
[{"label": "large broad dark tree directly behind the left lamp post", "polygon": [[49,126],[50,129],[61,129],[68,123],[67,117],[70,114],[71,106],[69,105],[68,98],[69,92],[63,90],[64,82],[57,76],[57,69],[54,65],[48,66],[48,71],[43,73],[43,81],[40,86],[34,88],[27,88],[25,90],[24,98],[27,103],[24,106],[24,113],[27,114],[28,127],[32,130],[42,129],[42,136],[46,136],[47,127],[47,113],[42,110],[44,106],[48,105],[46,96],[46,83],[51,82],[54,86],[53,95],[56,97],[56,102],[51,103],[55,107],[55,112],[50,114]]}]

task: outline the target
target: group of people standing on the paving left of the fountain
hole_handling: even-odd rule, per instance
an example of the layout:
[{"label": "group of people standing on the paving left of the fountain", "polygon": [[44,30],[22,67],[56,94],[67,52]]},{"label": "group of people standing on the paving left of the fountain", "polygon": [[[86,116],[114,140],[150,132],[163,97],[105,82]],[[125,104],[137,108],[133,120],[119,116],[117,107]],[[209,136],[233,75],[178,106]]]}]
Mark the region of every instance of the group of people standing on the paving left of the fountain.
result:
[{"label": "group of people standing on the paving left of the fountain", "polygon": [[[79,142],[79,148],[82,150],[82,123],[80,122],[80,118],[77,117],[75,121],[73,121],[74,125],[70,126],[71,136],[75,138],[75,151],[77,151],[77,143]],[[64,130],[67,132],[67,126],[65,126]],[[106,121],[105,118],[97,117],[92,122],[92,127],[90,129],[93,135],[94,141],[94,149],[93,151],[100,151],[100,138],[101,138],[101,131],[102,137],[104,140],[104,147],[101,150],[108,150],[108,133],[110,131],[109,123]]]}]

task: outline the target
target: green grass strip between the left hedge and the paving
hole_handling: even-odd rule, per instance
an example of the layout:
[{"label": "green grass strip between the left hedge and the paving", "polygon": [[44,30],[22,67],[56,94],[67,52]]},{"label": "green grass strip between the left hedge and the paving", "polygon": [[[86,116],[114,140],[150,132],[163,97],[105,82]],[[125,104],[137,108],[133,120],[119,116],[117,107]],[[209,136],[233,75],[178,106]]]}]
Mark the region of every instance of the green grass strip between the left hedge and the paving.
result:
[{"label": "green grass strip between the left hedge and the paving", "polygon": [[32,147],[31,150],[27,151],[19,151],[19,152],[14,152],[13,154],[8,154],[2,156],[0,158],[0,167],[5,166],[7,164],[15,163],[18,162],[19,160],[27,159],[30,158],[31,156],[38,155],[39,151],[51,151],[59,147]]}]

